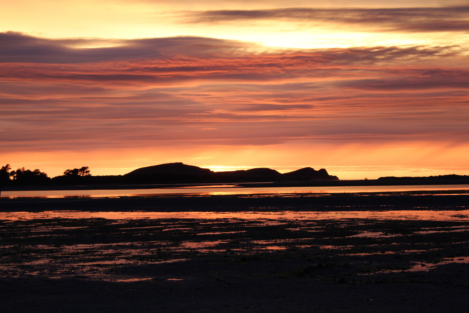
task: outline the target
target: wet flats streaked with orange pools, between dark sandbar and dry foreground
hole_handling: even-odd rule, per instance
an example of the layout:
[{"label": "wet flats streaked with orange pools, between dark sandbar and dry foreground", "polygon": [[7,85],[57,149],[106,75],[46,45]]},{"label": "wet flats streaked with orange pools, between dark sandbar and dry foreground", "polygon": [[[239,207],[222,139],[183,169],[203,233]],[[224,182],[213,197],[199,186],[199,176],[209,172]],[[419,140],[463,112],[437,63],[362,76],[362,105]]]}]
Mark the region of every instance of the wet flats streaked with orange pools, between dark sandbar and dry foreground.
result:
[{"label": "wet flats streaked with orange pools, between dark sandbar and dry foreground", "polygon": [[[469,260],[469,210],[15,212],[0,213],[0,233],[0,277],[181,280],[186,276],[179,270],[161,276],[159,268],[210,260],[211,270],[245,266],[249,275],[256,263],[258,271],[272,275],[278,263],[274,275],[284,278],[314,266],[318,279],[352,273],[354,279],[367,280],[377,273],[431,273]],[[292,265],[292,260],[299,263]],[[131,274],[139,267],[141,275]]]}]

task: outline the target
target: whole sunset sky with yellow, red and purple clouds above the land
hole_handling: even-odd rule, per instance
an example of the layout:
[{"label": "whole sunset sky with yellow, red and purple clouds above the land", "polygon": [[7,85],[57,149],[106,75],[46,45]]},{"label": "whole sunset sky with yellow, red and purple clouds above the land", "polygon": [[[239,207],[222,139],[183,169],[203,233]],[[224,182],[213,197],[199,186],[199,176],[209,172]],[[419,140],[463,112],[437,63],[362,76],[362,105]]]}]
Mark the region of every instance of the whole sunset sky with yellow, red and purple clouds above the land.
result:
[{"label": "whole sunset sky with yellow, red and purple clouds above the land", "polygon": [[1,165],[469,174],[469,1],[0,6]]}]

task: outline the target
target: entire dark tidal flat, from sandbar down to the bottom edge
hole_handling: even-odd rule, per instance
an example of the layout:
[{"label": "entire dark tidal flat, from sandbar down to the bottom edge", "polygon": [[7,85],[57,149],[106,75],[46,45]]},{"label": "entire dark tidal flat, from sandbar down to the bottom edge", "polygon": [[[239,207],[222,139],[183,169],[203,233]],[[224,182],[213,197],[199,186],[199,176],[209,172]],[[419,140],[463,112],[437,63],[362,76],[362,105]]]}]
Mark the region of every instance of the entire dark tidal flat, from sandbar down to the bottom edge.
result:
[{"label": "entire dark tidal flat, from sandbar down to the bottom edge", "polygon": [[467,311],[467,195],[338,197],[2,199],[2,312]]}]

